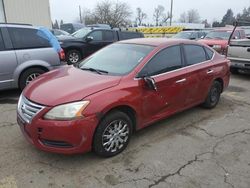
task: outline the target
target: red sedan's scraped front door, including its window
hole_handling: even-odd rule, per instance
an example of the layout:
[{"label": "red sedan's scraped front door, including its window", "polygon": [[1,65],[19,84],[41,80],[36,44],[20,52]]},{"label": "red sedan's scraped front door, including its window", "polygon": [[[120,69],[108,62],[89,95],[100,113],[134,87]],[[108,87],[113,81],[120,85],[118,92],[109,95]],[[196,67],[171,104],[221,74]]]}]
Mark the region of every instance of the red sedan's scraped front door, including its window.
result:
[{"label": "red sedan's scraped front door, including its window", "polygon": [[187,93],[186,71],[180,45],[156,54],[142,72],[154,78],[157,91],[143,89],[143,114],[147,123],[166,117],[184,107]]}]

